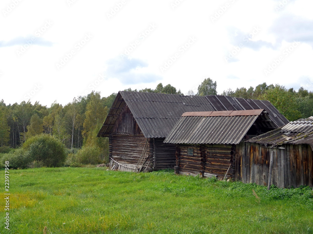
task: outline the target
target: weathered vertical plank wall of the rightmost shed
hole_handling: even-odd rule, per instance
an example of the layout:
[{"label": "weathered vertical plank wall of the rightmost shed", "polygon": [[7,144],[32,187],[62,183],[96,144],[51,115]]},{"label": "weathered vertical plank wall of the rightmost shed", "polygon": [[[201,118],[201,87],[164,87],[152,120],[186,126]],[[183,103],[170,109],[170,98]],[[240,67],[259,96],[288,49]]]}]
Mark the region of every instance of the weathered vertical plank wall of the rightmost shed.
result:
[{"label": "weathered vertical plank wall of the rightmost shed", "polygon": [[313,186],[312,149],[308,145],[285,144],[279,148],[267,148],[246,143],[242,157],[242,182],[266,186],[269,176],[270,152],[274,151],[271,184],[279,188]]}]

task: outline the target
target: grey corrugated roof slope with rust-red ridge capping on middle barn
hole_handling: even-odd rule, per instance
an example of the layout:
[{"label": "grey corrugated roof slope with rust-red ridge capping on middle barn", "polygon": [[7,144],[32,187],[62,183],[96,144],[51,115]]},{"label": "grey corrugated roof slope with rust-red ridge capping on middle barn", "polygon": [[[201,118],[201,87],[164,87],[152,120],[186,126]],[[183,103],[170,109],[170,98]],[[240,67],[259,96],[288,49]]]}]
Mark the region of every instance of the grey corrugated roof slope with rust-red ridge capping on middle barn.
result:
[{"label": "grey corrugated roof slope with rust-red ridge capping on middle barn", "polygon": [[[214,111],[207,112],[207,115],[184,113],[164,143],[239,144],[262,111]],[[249,112],[252,115],[248,115]]]}]

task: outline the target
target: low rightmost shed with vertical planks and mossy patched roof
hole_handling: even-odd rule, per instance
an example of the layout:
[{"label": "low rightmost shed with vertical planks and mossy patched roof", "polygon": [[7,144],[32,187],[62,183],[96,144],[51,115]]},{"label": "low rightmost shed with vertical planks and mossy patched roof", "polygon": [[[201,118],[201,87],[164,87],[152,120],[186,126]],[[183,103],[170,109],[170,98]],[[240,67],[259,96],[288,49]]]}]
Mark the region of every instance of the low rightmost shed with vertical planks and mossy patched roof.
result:
[{"label": "low rightmost shed with vertical planks and mossy patched roof", "polygon": [[[313,187],[313,117],[299,119],[282,128],[246,141],[242,158],[242,181],[279,188]],[[271,152],[272,167],[270,167]]]}]

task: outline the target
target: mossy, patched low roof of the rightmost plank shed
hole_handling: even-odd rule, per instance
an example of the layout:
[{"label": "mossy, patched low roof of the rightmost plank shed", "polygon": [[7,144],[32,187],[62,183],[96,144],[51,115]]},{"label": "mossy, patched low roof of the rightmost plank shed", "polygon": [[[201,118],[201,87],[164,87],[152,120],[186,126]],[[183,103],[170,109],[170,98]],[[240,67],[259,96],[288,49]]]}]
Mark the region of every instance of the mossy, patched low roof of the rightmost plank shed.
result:
[{"label": "mossy, patched low roof of the rightmost plank shed", "polygon": [[312,116],[307,119],[298,119],[281,128],[251,138],[246,142],[273,147],[282,144],[308,144],[313,150],[312,120]]}]

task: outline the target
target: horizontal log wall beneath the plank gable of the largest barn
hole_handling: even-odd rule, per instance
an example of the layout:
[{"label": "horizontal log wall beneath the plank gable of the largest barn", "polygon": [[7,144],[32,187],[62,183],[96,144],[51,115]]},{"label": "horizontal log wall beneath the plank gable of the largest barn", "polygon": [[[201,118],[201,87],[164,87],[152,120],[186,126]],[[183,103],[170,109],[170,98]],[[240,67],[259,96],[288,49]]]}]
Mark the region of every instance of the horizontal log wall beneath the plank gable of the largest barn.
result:
[{"label": "horizontal log wall beneath the plank gable of the largest barn", "polygon": [[[137,164],[146,143],[144,135],[112,134],[111,157],[118,163]],[[150,154],[148,149],[147,154]]]}]

